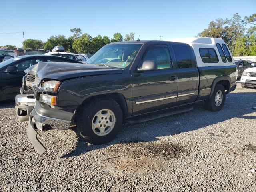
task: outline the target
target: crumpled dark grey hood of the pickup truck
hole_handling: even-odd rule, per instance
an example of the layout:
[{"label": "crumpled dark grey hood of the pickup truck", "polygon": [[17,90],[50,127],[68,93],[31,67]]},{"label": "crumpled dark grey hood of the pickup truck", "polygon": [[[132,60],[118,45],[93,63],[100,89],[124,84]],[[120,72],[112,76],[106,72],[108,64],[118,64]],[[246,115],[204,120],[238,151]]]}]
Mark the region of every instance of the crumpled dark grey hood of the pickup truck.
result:
[{"label": "crumpled dark grey hood of the pickup truck", "polygon": [[94,64],[39,62],[24,72],[35,75],[40,79],[56,79],[61,81],[83,76],[120,74],[122,70]]}]

